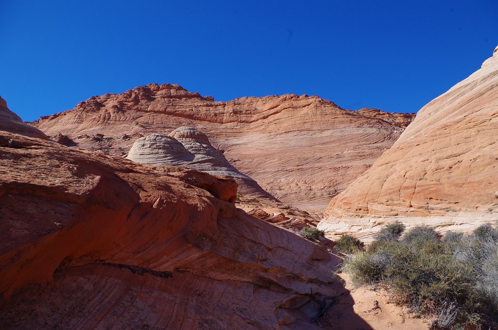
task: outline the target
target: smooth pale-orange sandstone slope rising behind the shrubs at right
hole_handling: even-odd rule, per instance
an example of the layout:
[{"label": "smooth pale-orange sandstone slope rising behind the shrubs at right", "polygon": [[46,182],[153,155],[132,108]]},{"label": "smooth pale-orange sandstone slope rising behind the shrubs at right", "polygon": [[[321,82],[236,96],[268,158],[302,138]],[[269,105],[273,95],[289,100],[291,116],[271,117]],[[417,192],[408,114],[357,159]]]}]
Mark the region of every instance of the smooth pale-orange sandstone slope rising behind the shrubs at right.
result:
[{"label": "smooth pale-orange sandstone slope rising behind the shrubs at right", "polygon": [[330,203],[320,227],[369,239],[399,220],[445,230],[498,219],[498,53],[424,106],[394,145]]}]

